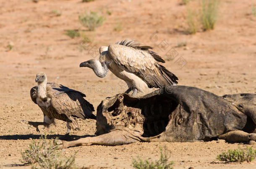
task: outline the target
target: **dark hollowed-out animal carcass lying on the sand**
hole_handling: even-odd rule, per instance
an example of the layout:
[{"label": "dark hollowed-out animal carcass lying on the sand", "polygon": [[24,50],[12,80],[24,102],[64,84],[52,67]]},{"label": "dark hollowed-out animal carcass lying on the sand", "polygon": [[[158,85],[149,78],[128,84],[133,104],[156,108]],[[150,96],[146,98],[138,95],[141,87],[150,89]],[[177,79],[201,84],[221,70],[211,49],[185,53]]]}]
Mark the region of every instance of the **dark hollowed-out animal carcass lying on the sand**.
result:
[{"label": "dark hollowed-out animal carcass lying on the sand", "polygon": [[99,136],[58,140],[58,144],[67,148],[214,139],[255,144],[255,105],[256,94],[217,96],[188,86],[167,86],[137,98],[122,93],[99,104],[95,133]]}]

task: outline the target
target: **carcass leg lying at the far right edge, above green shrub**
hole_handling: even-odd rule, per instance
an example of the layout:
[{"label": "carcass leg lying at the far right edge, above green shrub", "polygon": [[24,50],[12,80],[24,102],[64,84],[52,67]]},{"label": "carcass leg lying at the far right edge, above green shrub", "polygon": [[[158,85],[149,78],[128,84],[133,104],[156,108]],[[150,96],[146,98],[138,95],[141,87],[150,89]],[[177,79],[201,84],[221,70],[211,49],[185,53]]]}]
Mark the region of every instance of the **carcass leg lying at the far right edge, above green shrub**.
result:
[{"label": "carcass leg lying at the far right edge, above green shrub", "polygon": [[218,139],[223,139],[231,142],[249,142],[249,144],[253,144],[256,141],[256,133],[246,133],[241,130],[230,131],[225,134],[222,134],[218,137]]}]

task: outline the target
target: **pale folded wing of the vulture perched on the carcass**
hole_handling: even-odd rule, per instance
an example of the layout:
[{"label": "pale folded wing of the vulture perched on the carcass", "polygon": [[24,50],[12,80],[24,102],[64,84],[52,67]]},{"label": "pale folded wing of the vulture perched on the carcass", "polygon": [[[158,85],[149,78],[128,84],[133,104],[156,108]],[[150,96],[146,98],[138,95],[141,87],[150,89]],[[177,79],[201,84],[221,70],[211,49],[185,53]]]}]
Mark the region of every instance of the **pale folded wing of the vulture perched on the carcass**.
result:
[{"label": "pale folded wing of the vulture perched on the carcass", "polygon": [[178,78],[173,73],[157,63],[164,60],[149,50],[152,49],[150,46],[138,46],[138,43],[133,43],[133,40],[124,40],[119,44],[110,44],[108,54],[123,70],[144,80],[149,88],[162,88],[178,83]]}]

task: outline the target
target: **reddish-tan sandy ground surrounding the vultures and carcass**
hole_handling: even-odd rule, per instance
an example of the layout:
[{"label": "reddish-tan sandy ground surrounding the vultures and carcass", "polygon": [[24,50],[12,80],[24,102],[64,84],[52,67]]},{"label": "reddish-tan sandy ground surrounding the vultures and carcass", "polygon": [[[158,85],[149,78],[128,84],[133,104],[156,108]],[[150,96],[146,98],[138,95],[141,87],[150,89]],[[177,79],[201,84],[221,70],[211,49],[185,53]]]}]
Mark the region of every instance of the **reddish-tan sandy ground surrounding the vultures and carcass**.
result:
[{"label": "reddish-tan sandy ground surrounding the vultures and carcass", "polygon": [[[185,5],[180,0],[2,0],[0,3],[0,165],[2,168],[29,168],[21,164],[20,152],[31,139],[38,139],[36,129],[21,123],[22,119],[42,121],[43,114],[29,96],[35,86],[36,73],[47,73],[48,81],[86,93],[96,108],[107,96],[121,91],[124,83],[109,73],[98,78],[79,63],[98,57],[101,45],[133,38],[154,47],[168,60],[164,66],[179,78],[179,85],[195,86],[217,95],[256,93],[256,17],[251,7],[256,1],[222,0],[216,28],[188,35]],[[52,10],[60,11],[56,16]],[[78,21],[84,10],[101,11],[106,20],[97,30],[89,32]],[[108,15],[107,11],[112,14]],[[121,31],[114,31],[120,25]],[[65,30],[84,30],[92,43],[71,39]],[[187,43],[177,47],[178,43]],[[13,45],[8,50],[7,45]],[[85,47],[85,49],[83,48]],[[170,55],[172,52],[172,55]],[[183,64],[186,63],[186,64]],[[109,86],[106,88],[105,86]],[[125,91],[126,86],[123,91]],[[96,112],[95,112],[96,114]],[[74,137],[93,135],[95,121],[78,121],[81,131]],[[40,128],[42,130],[42,128]],[[65,122],[42,130],[49,138],[65,134]],[[60,150],[65,155],[76,151],[76,166],[90,168],[132,168],[133,158],[158,159],[159,146],[166,146],[175,169],[188,168],[255,168],[251,163],[225,164],[217,154],[245,144],[225,141],[195,143],[136,143],[123,146],[80,146]],[[256,146],[254,146],[256,148]],[[1,166],[0,166],[1,168]]]}]

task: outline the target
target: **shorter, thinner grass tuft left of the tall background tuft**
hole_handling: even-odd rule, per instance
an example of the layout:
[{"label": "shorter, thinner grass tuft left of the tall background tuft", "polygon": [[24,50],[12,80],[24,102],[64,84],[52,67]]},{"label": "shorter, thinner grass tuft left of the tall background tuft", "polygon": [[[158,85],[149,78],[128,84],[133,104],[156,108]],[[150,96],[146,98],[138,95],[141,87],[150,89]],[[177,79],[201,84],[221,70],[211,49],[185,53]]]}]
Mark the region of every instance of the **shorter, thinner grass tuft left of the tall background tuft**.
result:
[{"label": "shorter, thinner grass tuft left of the tall background tuft", "polygon": [[187,9],[187,22],[188,22],[188,30],[189,34],[195,34],[197,32],[197,15],[195,11],[192,11],[190,8]]}]

